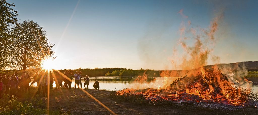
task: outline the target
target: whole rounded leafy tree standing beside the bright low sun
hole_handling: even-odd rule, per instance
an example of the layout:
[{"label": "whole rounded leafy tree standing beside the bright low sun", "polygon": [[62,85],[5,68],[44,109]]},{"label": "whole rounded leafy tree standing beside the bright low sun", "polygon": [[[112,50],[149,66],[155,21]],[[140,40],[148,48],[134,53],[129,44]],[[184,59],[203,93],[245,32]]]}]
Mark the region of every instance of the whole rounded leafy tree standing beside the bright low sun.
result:
[{"label": "whole rounded leafy tree standing beside the bright low sun", "polygon": [[33,21],[23,21],[19,27],[15,27],[11,35],[10,62],[11,68],[23,69],[38,68],[46,57],[53,56],[51,44],[47,40],[46,32]]}]

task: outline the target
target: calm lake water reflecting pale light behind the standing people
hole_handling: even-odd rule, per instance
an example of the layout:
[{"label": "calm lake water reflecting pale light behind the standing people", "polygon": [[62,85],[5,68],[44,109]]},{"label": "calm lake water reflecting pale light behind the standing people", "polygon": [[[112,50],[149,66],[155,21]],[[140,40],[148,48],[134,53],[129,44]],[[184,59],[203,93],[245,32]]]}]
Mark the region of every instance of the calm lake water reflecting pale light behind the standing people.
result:
[{"label": "calm lake water reflecting pale light behind the standing people", "polygon": [[[82,78],[82,85],[85,82],[84,79],[85,78]],[[89,88],[93,88],[93,83],[97,80],[97,81],[99,81],[100,89],[109,90],[109,91],[120,90],[120,89],[125,89],[125,88],[130,87],[135,79],[136,78],[90,77]],[[149,82],[153,79],[154,78],[148,78],[147,81]],[[253,82],[253,86],[251,88],[254,91],[258,91],[258,77],[248,78],[248,80]],[[63,82],[63,84],[64,83],[65,82]],[[34,83],[33,85],[37,86],[37,83]],[[53,83],[53,87],[55,87],[55,82]],[[71,87],[74,87],[74,78],[73,78]],[[84,88],[84,86],[83,86],[83,88]]]}]

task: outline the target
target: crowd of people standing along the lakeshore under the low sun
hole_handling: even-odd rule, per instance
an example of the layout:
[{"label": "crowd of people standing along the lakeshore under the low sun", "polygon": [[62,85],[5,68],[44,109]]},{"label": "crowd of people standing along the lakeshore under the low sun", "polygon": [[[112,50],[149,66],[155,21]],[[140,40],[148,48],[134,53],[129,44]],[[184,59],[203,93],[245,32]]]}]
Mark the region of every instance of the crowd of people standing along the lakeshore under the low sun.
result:
[{"label": "crowd of people standing along the lakeshore under the low sun", "polygon": [[[75,82],[74,88],[82,88],[82,72],[76,72],[75,74],[72,74],[72,71],[68,70],[63,74],[59,71],[40,71],[33,75],[34,80],[32,82],[29,73],[26,72],[22,72],[21,77],[19,77],[18,72],[15,72],[13,75],[0,73],[0,98],[2,97],[3,93],[10,94],[11,96],[16,96],[18,93],[30,93],[30,87],[33,86],[35,82],[37,83],[36,94],[40,94],[42,90],[43,97],[45,97],[47,96],[48,88],[54,89],[54,82],[55,89],[60,89],[61,87],[71,89],[73,77]],[[88,75],[85,77],[84,88],[86,88],[86,85],[87,88],[89,88],[90,78]],[[99,81],[95,81],[95,83],[93,83],[93,87],[94,89],[99,89]]]}]

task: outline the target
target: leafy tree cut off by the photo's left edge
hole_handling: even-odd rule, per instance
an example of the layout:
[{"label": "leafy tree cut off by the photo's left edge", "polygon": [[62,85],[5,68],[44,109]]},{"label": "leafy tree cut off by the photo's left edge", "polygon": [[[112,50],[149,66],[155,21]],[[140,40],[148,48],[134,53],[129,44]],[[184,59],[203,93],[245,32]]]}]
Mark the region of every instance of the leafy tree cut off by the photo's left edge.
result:
[{"label": "leafy tree cut off by the photo's left edge", "polygon": [[9,49],[11,39],[10,31],[14,26],[19,26],[17,22],[18,11],[12,9],[13,3],[7,3],[6,0],[0,0],[0,70],[8,64]]}]

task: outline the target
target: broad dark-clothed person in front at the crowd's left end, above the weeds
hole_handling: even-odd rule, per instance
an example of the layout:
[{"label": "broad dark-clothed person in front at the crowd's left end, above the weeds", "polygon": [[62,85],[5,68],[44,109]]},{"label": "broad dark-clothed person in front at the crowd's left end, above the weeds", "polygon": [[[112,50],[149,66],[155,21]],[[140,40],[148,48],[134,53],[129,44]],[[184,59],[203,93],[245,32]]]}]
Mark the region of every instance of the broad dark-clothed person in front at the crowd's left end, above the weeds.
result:
[{"label": "broad dark-clothed person in front at the crowd's left end, above the weeds", "polygon": [[16,76],[14,75],[11,75],[11,80],[8,82],[8,86],[10,87],[10,91],[9,91],[9,94],[11,96],[16,96],[16,92],[17,92],[17,86],[19,84],[19,81],[16,79]]}]

